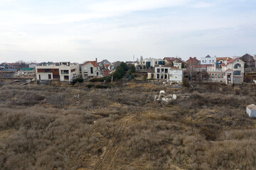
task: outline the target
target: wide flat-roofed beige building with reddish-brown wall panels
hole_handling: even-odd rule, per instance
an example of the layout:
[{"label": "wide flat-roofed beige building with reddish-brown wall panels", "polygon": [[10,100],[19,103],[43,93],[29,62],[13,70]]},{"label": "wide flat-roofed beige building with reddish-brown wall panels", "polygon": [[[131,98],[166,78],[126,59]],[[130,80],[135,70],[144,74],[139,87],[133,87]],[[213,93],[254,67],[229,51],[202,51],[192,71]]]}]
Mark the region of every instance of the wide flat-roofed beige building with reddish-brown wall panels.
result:
[{"label": "wide flat-roofed beige building with reddish-brown wall panels", "polygon": [[37,80],[72,81],[80,75],[79,65],[70,62],[36,66]]}]

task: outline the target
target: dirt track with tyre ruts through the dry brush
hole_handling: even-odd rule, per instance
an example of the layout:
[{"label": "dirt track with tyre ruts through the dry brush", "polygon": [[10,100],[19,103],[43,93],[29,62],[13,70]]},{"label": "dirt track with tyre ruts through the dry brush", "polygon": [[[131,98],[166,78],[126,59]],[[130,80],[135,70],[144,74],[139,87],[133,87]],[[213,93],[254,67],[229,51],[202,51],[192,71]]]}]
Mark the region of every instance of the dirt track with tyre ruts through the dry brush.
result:
[{"label": "dirt track with tyre ruts through the dry brush", "polygon": [[134,113],[132,115],[127,115],[119,120],[119,128],[117,130],[117,134],[107,146],[107,149],[103,153],[100,161],[97,162],[95,169],[112,169],[117,159],[117,153],[119,151],[119,148],[120,146],[122,146],[124,140],[124,132],[127,128],[127,125],[132,119],[136,118],[137,116],[138,114]]}]

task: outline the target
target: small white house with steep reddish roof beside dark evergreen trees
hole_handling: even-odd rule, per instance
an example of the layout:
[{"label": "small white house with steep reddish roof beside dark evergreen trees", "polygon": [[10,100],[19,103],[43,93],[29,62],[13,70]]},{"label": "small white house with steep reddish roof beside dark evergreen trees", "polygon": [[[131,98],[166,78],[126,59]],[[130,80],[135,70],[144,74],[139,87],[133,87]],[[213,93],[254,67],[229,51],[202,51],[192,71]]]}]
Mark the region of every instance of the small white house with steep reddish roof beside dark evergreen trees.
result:
[{"label": "small white house with steep reddish roof beside dark evergreen trees", "polygon": [[88,61],[81,66],[82,78],[100,76],[100,65],[95,61]]}]

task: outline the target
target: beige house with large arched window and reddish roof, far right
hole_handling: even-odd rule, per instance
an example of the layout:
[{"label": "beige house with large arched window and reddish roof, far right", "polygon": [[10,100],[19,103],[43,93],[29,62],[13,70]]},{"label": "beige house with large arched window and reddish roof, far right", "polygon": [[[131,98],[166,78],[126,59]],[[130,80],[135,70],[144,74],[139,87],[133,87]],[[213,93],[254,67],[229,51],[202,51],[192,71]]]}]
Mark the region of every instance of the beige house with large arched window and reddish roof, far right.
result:
[{"label": "beige house with large arched window and reddish roof, far right", "polygon": [[207,72],[210,81],[223,82],[225,84],[241,84],[245,74],[245,62],[239,58],[229,61],[223,60],[221,64],[207,67]]}]

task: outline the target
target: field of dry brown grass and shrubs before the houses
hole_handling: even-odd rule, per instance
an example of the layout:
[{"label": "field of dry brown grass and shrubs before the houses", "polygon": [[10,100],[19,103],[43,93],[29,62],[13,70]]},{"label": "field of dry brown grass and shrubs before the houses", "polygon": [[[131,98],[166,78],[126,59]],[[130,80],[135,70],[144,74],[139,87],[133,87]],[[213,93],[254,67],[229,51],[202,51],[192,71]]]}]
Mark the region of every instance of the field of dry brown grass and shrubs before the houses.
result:
[{"label": "field of dry brown grass and shrubs before the houses", "polygon": [[254,84],[4,84],[0,169],[255,169],[255,101]]}]

